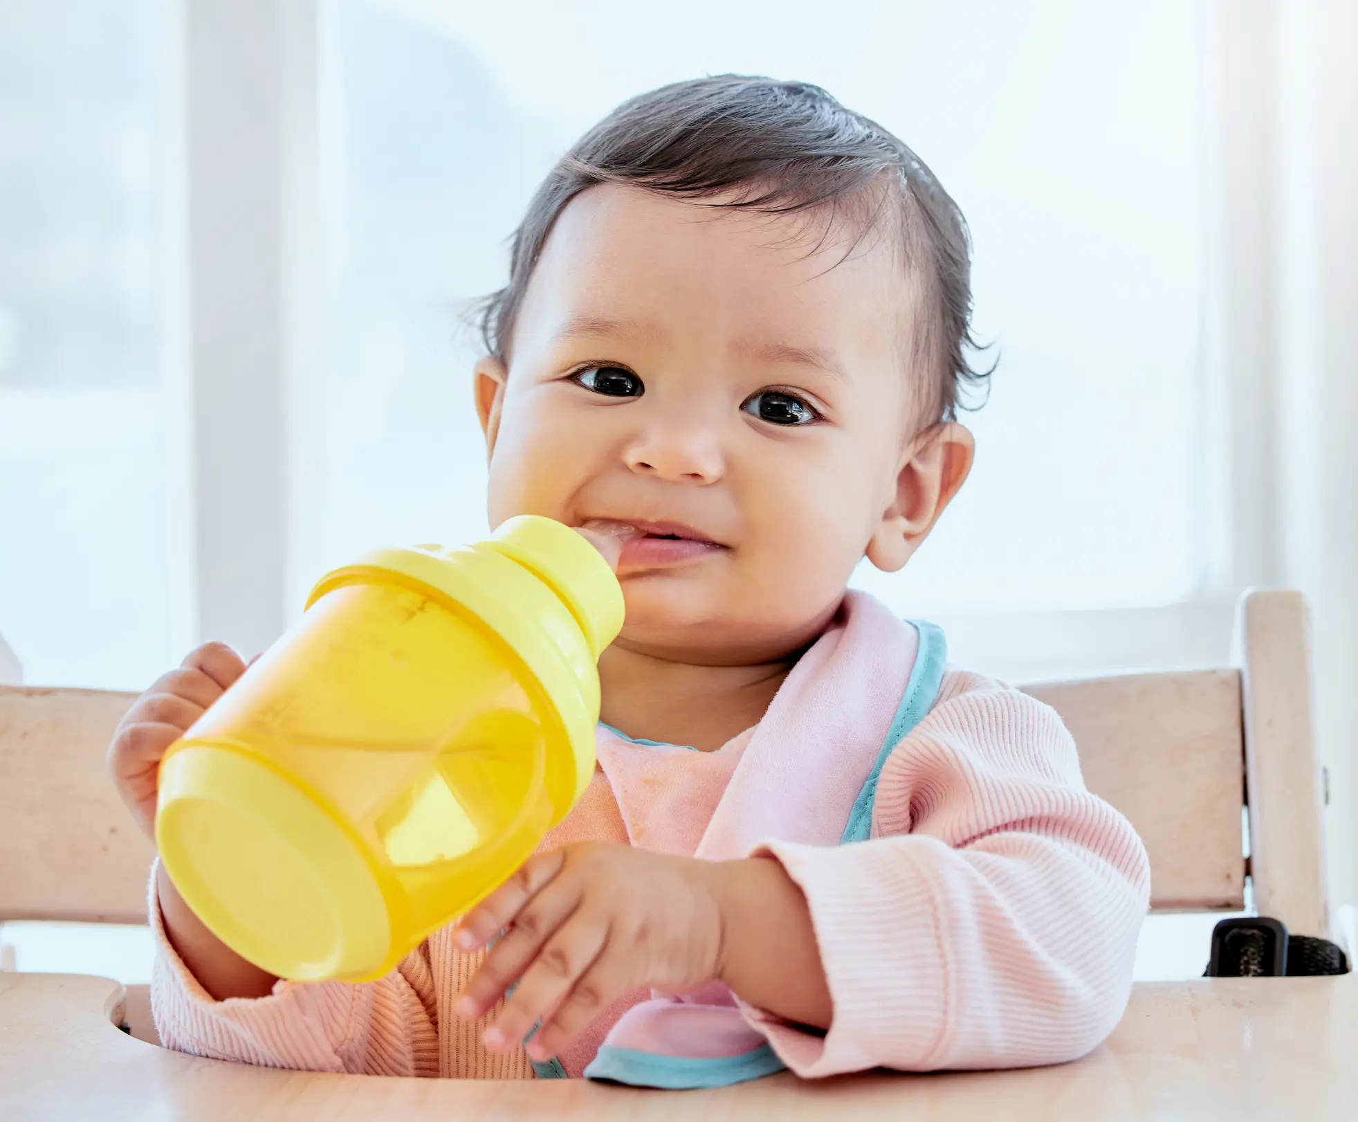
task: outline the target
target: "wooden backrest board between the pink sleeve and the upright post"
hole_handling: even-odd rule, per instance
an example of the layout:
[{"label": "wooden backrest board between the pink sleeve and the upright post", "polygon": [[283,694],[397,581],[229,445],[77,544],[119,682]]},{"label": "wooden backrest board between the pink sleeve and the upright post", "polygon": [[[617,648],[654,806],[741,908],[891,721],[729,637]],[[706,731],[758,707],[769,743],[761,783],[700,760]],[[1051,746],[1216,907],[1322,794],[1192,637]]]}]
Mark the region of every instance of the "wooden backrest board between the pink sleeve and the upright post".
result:
[{"label": "wooden backrest board between the pink sleeve and the upright post", "polygon": [[1154,910],[1244,907],[1237,671],[1090,678],[1024,691],[1061,713],[1085,784],[1141,834]]}]

